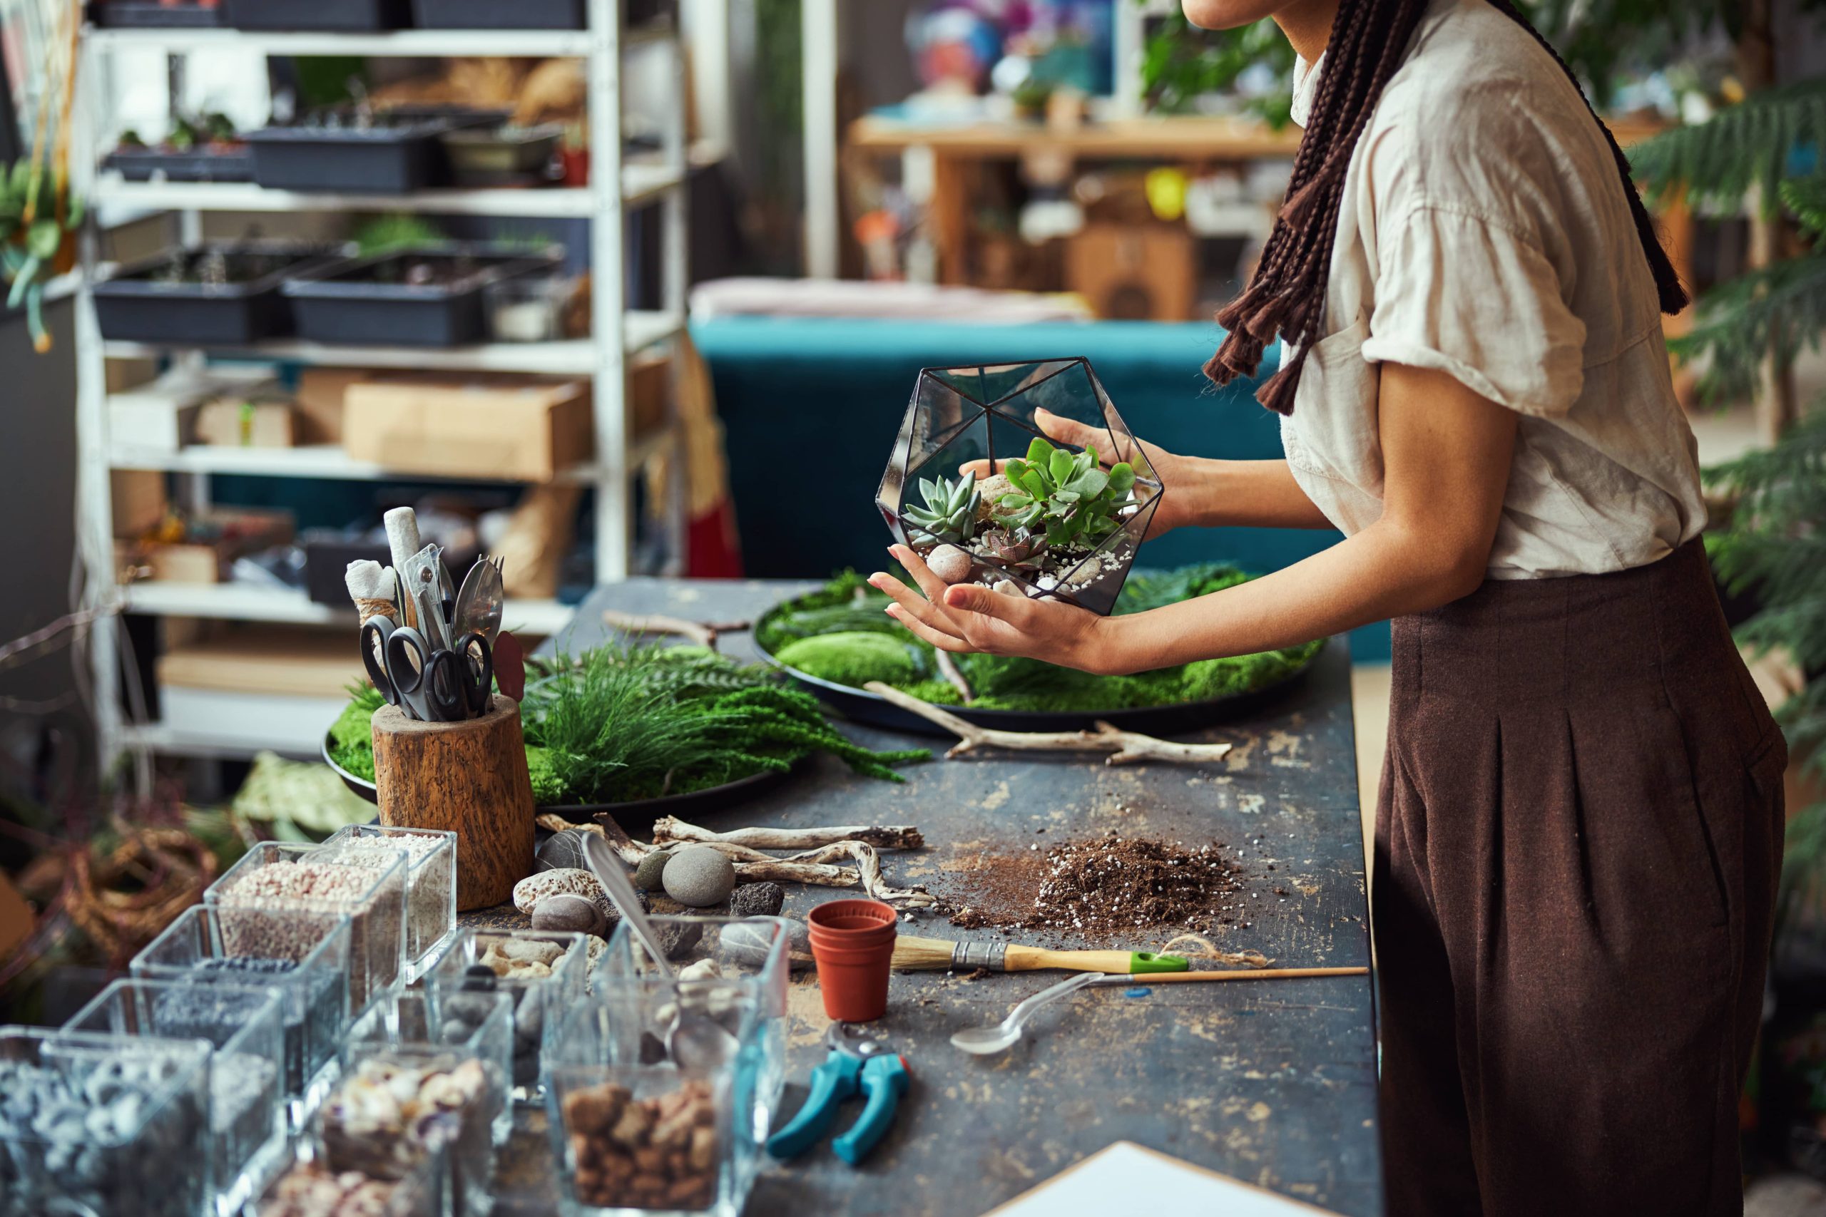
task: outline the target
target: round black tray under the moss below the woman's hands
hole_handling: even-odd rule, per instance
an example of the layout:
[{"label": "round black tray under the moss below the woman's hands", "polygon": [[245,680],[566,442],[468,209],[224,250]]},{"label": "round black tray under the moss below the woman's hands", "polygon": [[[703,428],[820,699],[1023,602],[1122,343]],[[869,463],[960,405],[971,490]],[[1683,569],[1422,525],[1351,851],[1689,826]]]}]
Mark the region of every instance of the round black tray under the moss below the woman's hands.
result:
[{"label": "round black tray under the moss below the woman's hands", "polygon": [[[756,622],[756,626],[760,626],[760,622]],[[1326,646],[1331,646],[1331,642],[1328,640]],[[809,671],[800,671],[798,668],[780,662],[765,648],[756,650],[760,650],[761,659],[822,697],[827,704],[840,710],[851,723],[864,723],[889,732],[950,737],[950,732],[937,723],[902,710],[880,693],[814,677]],[[1306,673],[1313,670],[1313,664],[1318,662],[1322,653],[1324,650],[1315,651],[1313,657],[1307,659],[1296,671],[1289,671],[1280,681],[1249,690],[1247,693],[1212,697],[1209,701],[1183,701],[1172,706],[1130,706],[1127,710],[1103,712],[977,710],[971,706],[940,706],[940,710],[955,713],[966,723],[1001,728],[1006,732],[1088,732],[1096,730],[1097,723],[1108,723],[1119,730],[1141,732],[1145,735],[1189,735],[1191,732],[1198,732],[1218,723],[1242,719],[1254,713],[1262,706],[1278,701],[1295,684],[1306,679]]]}]

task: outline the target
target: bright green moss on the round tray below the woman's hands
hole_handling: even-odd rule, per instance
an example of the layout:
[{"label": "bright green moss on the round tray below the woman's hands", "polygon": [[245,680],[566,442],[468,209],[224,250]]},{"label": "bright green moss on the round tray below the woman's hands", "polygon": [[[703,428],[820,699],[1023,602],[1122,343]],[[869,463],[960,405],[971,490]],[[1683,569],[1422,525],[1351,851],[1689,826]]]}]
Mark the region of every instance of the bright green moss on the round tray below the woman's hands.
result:
[{"label": "bright green moss on the round tray below the woman's hands", "polygon": [[[1233,566],[1200,564],[1128,577],[1118,613],[1191,600],[1249,578]],[[754,628],[761,650],[809,675],[836,684],[882,681],[929,702],[955,706],[959,692],[937,671],[933,648],[902,629],[882,609],[887,597],[845,571],[829,584],[782,604]],[[1037,659],[959,655],[957,666],[982,710],[1086,713],[1138,706],[1170,706],[1247,693],[1282,681],[1318,653],[1324,640],[1260,655],[1202,659],[1178,668],[1128,677],[1096,677]]]}]

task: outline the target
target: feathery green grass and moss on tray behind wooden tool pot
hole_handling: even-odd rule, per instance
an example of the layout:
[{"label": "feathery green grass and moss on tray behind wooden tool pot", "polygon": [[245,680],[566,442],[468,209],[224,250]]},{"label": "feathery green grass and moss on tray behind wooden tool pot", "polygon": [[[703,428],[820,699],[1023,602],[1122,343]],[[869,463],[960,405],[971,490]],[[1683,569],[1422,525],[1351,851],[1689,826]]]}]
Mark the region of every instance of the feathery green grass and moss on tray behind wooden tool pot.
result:
[{"label": "feathery green grass and moss on tray behind wooden tool pot", "polygon": [[[373,781],[369,719],[382,699],[369,686],[352,693],[331,728],[331,759]],[[701,646],[601,646],[542,661],[520,717],[540,806],[688,794],[783,772],[816,752],[900,781],[891,766],[931,755],[869,752],[833,728],[811,693]]]}]

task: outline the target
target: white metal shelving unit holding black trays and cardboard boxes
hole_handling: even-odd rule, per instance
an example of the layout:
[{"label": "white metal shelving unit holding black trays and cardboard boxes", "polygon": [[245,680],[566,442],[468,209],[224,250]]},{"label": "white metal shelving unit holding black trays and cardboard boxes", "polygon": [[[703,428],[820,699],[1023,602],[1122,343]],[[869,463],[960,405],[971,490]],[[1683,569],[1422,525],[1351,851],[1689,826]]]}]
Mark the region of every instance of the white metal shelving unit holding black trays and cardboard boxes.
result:
[{"label": "white metal shelving unit holding black trays and cardboard boxes", "polygon": [[[168,57],[173,77],[181,77],[183,58],[195,51],[232,51],[257,57],[572,57],[586,60],[590,120],[590,184],[550,190],[425,190],[411,195],[347,195],[263,190],[230,182],[126,182],[100,175],[95,168],[102,137],[111,135],[106,115],[84,113],[86,144],[95,159],[79,186],[95,208],[117,213],[170,213],[173,235],[192,241],[201,234],[208,212],[307,213],[307,212],[422,212],[435,215],[488,215],[528,219],[590,221],[590,292],[593,334],[555,343],[488,343],[455,350],[416,347],[325,347],[303,341],[276,341],[241,348],[177,348],[142,343],[102,341],[95,327],[93,301],[80,290],[77,308],[77,359],[80,370],[79,436],[79,527],[88,569],[91,604],[113,604],[130,613],[159,617],[197,617],[215,620],[287,622],[301,626],[351,628],[354,613],[316,604],[301,591],[252,588],[239,584],[161,584],[141,582],[121,588],[113,569],[111,469],[163,469],[188,482],[188,504],[210,500],[212,474],[256,474],[270,478],[332,480],[440,480],[418,473],[394,473],[382,465],[351,460],[340,447],[298,449],[210,449],[186,447],[179,452],[139,452],[115,445],[108,436],[108,363],[113,359],[170,358],[195,361],[206,356],[257,358],[298,365],[435,369],[590,376],[595,407],[595,458],[570,469],[562,480],[595,491],[595,577],[599,582],[623,578],[634,556],[634,478],[645,463],[670,452],[683,467],[683,438],[676,409],[654,434],[630,434],[626,401],[626,363],[630,356],[672,341],[685,327],[685,181],[690,170],[685,146],[685,60],[679,31],[672,22],[628,27],[619,0],[590,0],[590,27],[582,31],[438,31],[402,29],[389,33],[252,33],[234,29],[86,29],[84,73],[97,78],[97,68],[115,49],[157,49]],[[676,104],[663,108],[665,130],[659,153],[623,155],[623,58],[626,55],[663,55],[665,78]],[[91,91],[93,93],[93,91]],[[632,310],[626,301],[628,213],[657,206],[661,212],[661,299],[656,310]],[[84,266],[99,268],[97,241],[86,243]],[[462,484],[466,478],[449,478]],[[683,556],[685,500],[683,478],[668,478],[665,504],[670,562]],[[555,633],[570,620],[570,609],[550,600],[509,600],[508,628],[528,633]],[[126,723],[121,706],[119,620],[102,617],[93,633],[97,732],[104,765],[124,748],[146,748],[181,755],[232,757],[256,748],[310,754],[316,735],[299,733],[299,724],[321,717],[316,699],[261,699],[248,693],[219,693],[206,723]],[[194,690],[186,699],[195,701]],[[217,704],[219,702],[219,704]],[[230,730],[248,715],[265,717],[247,730]],[[327,719],[323,721],[327,726]]]}]

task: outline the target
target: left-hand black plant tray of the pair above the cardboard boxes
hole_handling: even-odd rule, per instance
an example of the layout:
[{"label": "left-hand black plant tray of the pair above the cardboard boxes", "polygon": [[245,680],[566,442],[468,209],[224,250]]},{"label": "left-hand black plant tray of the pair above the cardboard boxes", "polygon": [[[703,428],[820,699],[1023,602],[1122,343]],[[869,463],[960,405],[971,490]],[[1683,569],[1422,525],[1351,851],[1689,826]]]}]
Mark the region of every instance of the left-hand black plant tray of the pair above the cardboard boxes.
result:
[{"label": "left-hand black plant tray of the pair above the cardboard boxes", "polygon": [[186,250],[195,257],[221,248],[230,259],[274,257],[281,265],[241,283],[159,283],[172,252],[124,266],[95,285],[95,319],[102,338],[130,343],[175,343],[194,347],[245,347],[292,330],[290,303],[279,285],[294,274],[331,268],[345,261],[343,250],[296,243],[212,243]]}]

